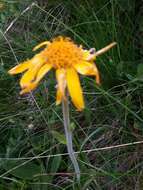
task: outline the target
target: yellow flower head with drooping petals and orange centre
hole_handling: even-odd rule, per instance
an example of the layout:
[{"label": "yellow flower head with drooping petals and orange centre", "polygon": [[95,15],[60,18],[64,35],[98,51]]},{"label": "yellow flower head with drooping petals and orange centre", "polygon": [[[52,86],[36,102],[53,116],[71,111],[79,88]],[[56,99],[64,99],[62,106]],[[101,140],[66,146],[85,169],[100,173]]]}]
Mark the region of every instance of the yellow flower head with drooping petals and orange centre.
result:
[{"label": "yellow flower head with drooping petals and orange centre", "polygon": [[57,98],[56,104],[60,104],[66,98],[68,90],[75,107],[81,111],[84,108],[84,99],[78,73],[95,76],[99,84],[99,73],[94,61],[96,59],[93,49],[84,50],[76,45],[70,38],[59,36],[50,41],[37,45],[33,50],[45,48],[32,59],[29,59],[9,70],[10,74],[25,72],[20,80],[22,91],[20,94],[34,90],[41,79],[50,69],[56,70]]}]

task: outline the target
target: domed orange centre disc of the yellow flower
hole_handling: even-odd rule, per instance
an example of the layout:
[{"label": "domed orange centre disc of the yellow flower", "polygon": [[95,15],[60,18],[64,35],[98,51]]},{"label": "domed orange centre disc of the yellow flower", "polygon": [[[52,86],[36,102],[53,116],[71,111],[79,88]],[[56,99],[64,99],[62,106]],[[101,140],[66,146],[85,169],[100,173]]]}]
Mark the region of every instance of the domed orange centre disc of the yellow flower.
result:
[{"label": "domed orange centre disc of the yellow flower", "polygon": [[49,64],[57,68],[67,68],[82,59],[82,48],[74,44],[69,38],[57,37],[44,50]]}]

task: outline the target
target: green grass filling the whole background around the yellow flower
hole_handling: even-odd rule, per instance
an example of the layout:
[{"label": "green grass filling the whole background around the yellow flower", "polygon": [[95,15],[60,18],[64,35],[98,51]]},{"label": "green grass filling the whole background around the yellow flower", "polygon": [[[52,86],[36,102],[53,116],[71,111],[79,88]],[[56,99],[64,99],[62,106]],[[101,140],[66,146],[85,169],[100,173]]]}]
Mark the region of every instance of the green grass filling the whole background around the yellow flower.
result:
[{"label": "green grass filling the whole background around the yellow flower", "polygon": [[[142,189],[142,144],[124,145],[142,141],[143,134],[143,66],[137,36],[142,28],[137,2],[2,3],[0,189]],[[66,155],[61,107],[55,106],[54,73],[25,96],[19,96],[19,77],[7,74],[17,62],[33,55],[37,43],[57,35],[68,35],[97,50],[112,41],[118,43],[97,59],[101,86],[81,77],[85,110],[79,113],[70,106],[75,150],[80,151],[81,186]]]}]

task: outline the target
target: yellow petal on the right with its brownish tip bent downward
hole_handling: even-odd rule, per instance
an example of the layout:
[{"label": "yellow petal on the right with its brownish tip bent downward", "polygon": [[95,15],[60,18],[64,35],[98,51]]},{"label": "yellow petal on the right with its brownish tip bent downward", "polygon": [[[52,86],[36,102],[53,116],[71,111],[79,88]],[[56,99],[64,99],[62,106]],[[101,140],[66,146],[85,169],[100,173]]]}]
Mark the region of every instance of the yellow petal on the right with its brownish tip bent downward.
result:
[{"label": "yellow petal on the right with its brownish tip bent downward", "polygon": [[100,84],[99,72],[94,63],[83,61],[77,64],[74,64],[74,68],[78,73],[82,75],[95,76],[97,84]]}]

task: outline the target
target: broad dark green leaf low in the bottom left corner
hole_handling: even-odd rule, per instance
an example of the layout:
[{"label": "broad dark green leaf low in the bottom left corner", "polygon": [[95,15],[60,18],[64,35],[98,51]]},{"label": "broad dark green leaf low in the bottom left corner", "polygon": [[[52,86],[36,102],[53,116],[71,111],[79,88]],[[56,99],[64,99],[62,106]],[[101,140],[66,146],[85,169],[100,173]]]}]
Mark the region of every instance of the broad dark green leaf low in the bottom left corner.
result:
[{"label": "broad dark green leaf low in the bottom left corner", "polygon": [[[40,165],[33,162],[9,160],[3,163],[3,168],[10,174],[21,179],[33,179],[34,175],[41,173]],[[15,169],[14,169],[15,168]]]}]

